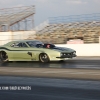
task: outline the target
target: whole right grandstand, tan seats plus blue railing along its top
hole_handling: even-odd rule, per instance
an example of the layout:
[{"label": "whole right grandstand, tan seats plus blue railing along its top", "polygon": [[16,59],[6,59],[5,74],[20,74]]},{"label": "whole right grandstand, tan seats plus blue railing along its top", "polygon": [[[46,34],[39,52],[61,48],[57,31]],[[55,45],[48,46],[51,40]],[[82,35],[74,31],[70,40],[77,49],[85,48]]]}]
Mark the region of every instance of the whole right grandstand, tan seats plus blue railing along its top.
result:
[{"label": "whole right grandstand, tan seats plus blue railing along its top", "polygon": [[47,23],[36,27],[36,31],[35,39],[44,42],[65,44],[70,39],[81,39],[84,43],[99,43],[100,14],[49,18]]}]

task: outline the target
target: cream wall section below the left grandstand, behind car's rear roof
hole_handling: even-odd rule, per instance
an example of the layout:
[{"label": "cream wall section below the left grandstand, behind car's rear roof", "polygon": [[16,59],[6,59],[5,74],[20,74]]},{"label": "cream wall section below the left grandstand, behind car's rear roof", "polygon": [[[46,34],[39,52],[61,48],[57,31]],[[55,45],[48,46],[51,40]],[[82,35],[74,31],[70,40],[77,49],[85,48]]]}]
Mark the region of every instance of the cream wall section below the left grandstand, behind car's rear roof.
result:
[{"label": "cream wall section below the left grandstand, behind car's rear roof", "polygon": [[27,39],[31,34],[34,35],[35,33],[35,31],[0,32],[0,45],[13,40]]}]

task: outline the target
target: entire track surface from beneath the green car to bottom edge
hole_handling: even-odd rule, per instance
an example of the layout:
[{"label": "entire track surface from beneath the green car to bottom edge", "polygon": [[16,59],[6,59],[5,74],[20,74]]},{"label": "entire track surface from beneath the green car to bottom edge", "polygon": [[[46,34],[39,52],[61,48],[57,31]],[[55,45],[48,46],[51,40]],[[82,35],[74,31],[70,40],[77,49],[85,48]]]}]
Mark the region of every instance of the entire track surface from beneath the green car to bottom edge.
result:
[{"label": "entire track surface from beneath the green car to bottom edge", "polygon": [[1,64],[0,100],[100,100],[100,57]]}]

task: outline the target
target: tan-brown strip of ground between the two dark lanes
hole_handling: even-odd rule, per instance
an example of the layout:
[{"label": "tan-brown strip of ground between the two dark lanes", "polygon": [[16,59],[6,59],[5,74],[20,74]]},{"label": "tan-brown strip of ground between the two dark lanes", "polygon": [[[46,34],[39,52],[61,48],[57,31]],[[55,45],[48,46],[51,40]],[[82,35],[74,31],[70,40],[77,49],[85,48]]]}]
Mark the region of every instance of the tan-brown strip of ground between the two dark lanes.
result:
[{"label": "tan-brown strip of ground between the two dark lanes", "polygon": [[61,68],[56,69],[56,68],[0,67],[0,75],[100,80],[100,70],[98,69],[87,70],[87,69],[61,69]]}]

